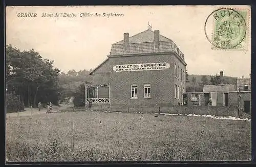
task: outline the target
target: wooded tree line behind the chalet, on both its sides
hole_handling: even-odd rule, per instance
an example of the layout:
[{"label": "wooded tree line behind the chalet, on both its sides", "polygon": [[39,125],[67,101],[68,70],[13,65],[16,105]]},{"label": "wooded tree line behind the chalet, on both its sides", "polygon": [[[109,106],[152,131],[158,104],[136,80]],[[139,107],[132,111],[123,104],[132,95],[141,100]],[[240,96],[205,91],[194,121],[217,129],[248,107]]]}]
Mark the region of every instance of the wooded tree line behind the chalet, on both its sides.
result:
[{"label": "wooded tree line behind the chalet, on both its sides", "polygon": [[[77,106],[84,105],[84,84],[92,82],[92,70],[60,72],[53,61],[44,59],[34,49],[20,51],[6,46],[6,101],[7,109],[22,110],[37,103],[67,103],[74,97]],[[236,78],[224,76],[225,84]],[[220,84],[219,75],[193,75],[186,71],[186,92],[202,92],[203,85]]]}]

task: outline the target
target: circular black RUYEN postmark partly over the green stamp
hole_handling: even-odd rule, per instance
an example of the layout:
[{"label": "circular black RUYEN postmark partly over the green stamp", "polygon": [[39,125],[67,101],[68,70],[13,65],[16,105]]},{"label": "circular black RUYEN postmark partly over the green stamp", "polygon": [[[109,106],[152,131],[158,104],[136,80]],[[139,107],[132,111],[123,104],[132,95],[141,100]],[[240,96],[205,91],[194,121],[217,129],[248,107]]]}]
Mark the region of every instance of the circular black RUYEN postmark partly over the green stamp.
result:
[{"label": "circular black RUYEN postmark partly over the green stamp", "polygon": [[246,22],[238,11],[221,8],[207,17],[204,31],[208,41],[215,47],[234,48],[245,38]]}]

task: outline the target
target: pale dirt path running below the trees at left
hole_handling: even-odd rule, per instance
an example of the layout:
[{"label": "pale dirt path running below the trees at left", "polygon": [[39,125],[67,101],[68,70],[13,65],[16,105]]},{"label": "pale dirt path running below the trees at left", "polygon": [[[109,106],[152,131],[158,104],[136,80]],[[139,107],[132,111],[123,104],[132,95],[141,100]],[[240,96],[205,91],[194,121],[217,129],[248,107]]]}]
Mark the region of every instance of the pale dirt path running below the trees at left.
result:
[{"label": "pale dirt path running below the trees at left", "polygon": [[[58,112],[59,109],[65,109],[67,107],[70,107],[70,105],[66,104],[60,104],[60,106],[53,106],[53,112]],[[38,111],[38,108],[33,108],[32,109],[32,116],[33,115],[38,115],[38,114],[46,114],[47,109],[42,108],[40,112]],[[7,113],[7,117],[17,117],[17,113]],[[25,108],[24,112],[19,112],[18,117],[25,117],[25,116],[31,116],[31,108]]]}]

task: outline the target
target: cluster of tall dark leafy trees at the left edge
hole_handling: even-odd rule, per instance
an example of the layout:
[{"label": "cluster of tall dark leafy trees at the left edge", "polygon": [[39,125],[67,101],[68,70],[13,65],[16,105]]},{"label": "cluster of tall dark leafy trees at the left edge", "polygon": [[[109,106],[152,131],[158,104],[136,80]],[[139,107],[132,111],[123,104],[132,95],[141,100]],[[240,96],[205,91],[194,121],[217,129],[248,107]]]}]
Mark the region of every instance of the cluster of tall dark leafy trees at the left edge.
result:
[{"label": "cluster of tall dark leafy trees at the left edge", "polygon": [[[59,71],[53,68],[53,61],[43,59],[34,49],[20,51],[12,45],[6,47],[6,93],[11,99],[17,98],[21,108],[36,107],[39,101],[57,104]],[[8,99],[7,103],[12,104]]]}]

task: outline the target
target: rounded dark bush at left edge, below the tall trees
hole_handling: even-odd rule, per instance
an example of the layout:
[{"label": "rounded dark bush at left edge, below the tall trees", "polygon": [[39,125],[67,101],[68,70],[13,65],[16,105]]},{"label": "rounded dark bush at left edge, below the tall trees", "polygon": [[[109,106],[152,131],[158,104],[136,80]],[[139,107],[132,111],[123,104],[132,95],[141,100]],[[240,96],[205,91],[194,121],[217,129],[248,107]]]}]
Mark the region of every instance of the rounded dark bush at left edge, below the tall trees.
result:
[{"label": "rounded dark bush at left edge, below the tall trees", "polygon": [[7,111],[7,113],[17,112],[17,110],[19,110],[19,111],[24,110],[24,105],[22,104],[22,102],[20,102],[18,100],[16,95],[14,95],[12,93],[6,94],[6,111]]}]

